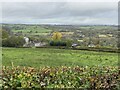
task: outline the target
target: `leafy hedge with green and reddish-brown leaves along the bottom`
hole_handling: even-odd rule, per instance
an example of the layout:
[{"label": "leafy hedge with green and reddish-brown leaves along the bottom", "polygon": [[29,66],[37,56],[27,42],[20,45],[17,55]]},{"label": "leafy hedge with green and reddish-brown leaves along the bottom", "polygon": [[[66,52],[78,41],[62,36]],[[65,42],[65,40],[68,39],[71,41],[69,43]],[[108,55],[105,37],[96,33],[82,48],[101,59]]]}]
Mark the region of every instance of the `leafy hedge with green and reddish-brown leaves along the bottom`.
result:
[{"label": "leafy hedge with green and reddish-brown leaves along the bottom", "polygon": [[117,67],[3,67],[3,88],[120,90]]}]

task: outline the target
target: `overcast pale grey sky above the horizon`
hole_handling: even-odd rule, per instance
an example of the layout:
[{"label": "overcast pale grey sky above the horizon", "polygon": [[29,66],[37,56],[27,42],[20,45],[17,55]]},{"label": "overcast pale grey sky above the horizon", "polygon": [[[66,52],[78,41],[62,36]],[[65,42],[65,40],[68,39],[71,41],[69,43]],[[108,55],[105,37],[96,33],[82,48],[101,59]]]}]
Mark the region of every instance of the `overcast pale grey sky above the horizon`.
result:
[{"label": "overcast pale grey sky above the horizon", "polygon": [[0,22],[17,24],[117,25],[117,1],[74,1],[35,2],[35,0],[32,0],[32,2],[2,2],[2,21]]}]

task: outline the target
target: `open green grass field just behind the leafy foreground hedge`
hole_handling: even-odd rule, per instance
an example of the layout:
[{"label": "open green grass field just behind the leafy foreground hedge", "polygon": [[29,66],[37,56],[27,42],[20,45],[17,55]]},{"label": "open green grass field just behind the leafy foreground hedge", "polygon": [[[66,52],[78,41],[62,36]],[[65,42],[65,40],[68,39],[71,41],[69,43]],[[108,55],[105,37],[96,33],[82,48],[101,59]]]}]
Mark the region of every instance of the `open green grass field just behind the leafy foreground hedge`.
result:
[{"label": "open green grass field just behind the leafy foreground hedge", "polygon": [[5,66],[117,66],[118,54],[50,48],[3,48],[2,63]]}]

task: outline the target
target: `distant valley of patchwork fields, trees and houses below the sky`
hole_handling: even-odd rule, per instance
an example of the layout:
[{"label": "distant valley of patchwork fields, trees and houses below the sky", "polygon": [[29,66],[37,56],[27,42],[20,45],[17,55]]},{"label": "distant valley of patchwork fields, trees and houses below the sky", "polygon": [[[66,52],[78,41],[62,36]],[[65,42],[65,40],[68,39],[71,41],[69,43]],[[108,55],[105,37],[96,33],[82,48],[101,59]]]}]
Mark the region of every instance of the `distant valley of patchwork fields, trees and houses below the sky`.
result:
[{"label": "distant valley of patchwork fields, trees and houses below the sky", "polygon": [[[118,47],[117,26],[81,26],[81,25],[3,25],[11,35],[23,36],[23,47],[49,46],[54,32],[61,33],[60,42],[67,47]],[[59,44],[59,42],[58,42]],[[56,44],[57,45],[57,44]]]}]

